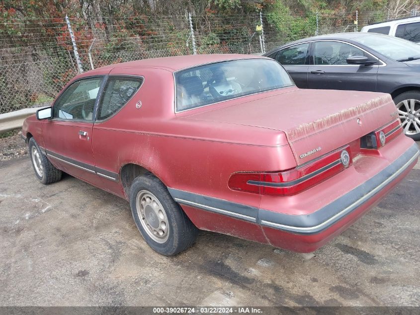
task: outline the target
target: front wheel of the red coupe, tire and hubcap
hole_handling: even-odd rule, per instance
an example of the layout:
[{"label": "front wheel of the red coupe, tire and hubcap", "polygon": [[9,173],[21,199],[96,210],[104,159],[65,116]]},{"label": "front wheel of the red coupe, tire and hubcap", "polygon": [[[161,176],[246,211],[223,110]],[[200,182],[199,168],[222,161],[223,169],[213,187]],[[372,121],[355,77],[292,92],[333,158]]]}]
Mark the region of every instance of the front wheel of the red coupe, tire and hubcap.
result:
[{"label": "front wheel of the red coupe, tire and hubcap", "polygon": [[35,175],[41,184],[47,185],[61,180],[63,173],[51,164],[33,137],[29,139],[29,157]]}]

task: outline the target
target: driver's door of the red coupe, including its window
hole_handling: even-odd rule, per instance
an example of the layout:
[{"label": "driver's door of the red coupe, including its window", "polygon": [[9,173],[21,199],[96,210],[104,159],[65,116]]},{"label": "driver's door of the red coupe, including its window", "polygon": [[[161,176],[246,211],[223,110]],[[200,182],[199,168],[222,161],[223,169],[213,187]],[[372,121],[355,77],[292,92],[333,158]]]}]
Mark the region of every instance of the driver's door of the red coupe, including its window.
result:
[{"label": "driver's door of the red coupe, including its window", "polygon": [[103,76],[72,83],[53,105],[52,118],[43,123],[45,151],[60,169],[97,183],[92,153],[92,127]]}]

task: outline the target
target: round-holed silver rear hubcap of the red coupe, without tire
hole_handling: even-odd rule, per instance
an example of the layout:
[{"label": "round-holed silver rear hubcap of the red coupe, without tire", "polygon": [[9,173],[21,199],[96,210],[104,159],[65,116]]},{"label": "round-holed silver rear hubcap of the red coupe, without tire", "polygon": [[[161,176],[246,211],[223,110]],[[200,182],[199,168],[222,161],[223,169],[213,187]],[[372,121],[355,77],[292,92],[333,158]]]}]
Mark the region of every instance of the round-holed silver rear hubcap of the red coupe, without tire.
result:
[{"label": "round-holed silver rear hubcap of the red coupe, without tire", "polygon": [[136,210],[146,233],[156,242],[165,243],[169,236],[168,216],[162,204],[151,192],[137,194]]}]

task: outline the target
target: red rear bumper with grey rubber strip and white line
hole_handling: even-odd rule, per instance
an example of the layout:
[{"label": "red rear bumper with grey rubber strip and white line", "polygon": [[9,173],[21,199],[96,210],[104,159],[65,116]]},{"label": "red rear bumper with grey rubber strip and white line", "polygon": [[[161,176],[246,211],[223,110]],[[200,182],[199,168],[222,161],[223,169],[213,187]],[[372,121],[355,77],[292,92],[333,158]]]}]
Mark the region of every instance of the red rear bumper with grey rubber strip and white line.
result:
[{"label": "red rear bumper with grey rubber strip and white line", "polygon": [[368,181],[311,214],[259,210],[258,218],[270,244],[298,252],[320,248],[378,204],[410,172],[419,154],[413,144]]}]

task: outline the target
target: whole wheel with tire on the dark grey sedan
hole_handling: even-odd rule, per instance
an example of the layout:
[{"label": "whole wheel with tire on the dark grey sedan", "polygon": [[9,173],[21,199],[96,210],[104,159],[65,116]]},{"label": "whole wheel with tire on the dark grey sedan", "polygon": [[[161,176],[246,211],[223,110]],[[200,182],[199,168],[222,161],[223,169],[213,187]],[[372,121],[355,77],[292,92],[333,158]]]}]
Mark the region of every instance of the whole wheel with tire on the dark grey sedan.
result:
[{"label": "whole wheel with tire on the dark grey sedan", "polygon": [[[420,92],[408,91],[394,98],[404,133],[415,141],[420,140]],[[408,129],[406,129],[407,125]]]}]

